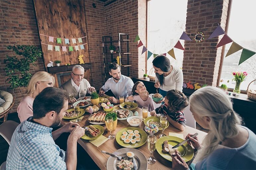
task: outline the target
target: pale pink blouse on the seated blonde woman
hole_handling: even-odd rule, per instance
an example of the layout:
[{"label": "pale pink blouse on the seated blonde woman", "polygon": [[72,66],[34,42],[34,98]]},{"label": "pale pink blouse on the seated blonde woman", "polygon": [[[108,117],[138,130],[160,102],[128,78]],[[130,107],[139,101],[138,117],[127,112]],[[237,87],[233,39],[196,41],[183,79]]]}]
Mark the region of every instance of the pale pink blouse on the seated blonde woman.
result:
[{"label": "pale pink blouse on the seated blonde woman", "polygon": [[34,98],[30,96],[24,97],[17,109],[18,116],[21,122],[27,120],[30,116],[33,116],[33,102]]}]

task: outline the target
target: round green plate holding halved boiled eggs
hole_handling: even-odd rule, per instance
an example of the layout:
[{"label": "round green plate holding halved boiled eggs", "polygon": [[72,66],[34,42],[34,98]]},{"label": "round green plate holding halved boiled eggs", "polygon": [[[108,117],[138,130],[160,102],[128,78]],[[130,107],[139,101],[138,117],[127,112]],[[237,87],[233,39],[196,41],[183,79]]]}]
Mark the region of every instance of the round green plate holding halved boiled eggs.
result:
[{"label": "round green plate holding halved boiled eggs", "polygon": [[[136,142],[135,144],[127,144],[125,143],[122,139],[121,136],[123,135],[123,132],[127,132],[127,130],[137,130],[139,131],[139,135],[140,135],[140,141]],[[133,137],[134,139],[134,137]],[[147,134],[144,130],[140,129],[140,128],[136,128],[136,127],[127,127],[127,128],[123,128],[121,129],[117,135],[116,135],[116,141],[119,145],[121,145],[122,147],[126,147],[126,148],[138,148],[141,147],[142,145],[144,145],[147,142]]]}]

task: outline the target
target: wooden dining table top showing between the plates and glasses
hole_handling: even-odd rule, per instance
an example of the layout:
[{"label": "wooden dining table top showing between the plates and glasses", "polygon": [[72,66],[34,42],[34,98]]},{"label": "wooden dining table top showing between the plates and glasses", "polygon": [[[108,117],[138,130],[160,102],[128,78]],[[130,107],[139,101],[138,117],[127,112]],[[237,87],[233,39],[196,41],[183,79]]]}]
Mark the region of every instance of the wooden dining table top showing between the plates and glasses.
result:
[{"label": "wooden dining table top showing between the plates and glasses", "polygon": [[[100,112],[100,111],[103,111],[103,110],[100,108],[100,110],[98,112]],[[135,108],[135,109],[133,109],[131,111],[133,113],[134,113],[134,111],[138,111],[139,116],[142,117],[142,109],[141,108],[137,107],[137,108]],[[85,112],[82,121],[78,122],[78,124],[81,127],[90,125],[90,123],[87,121],[89,115],[90,115],[89,113]],[[150,116],[150,112],[148,112],[148,117],[149,116]],[[69,120],[62,119],[61,125],[63,126],[65,124],[67,124],[68,122],[69,122]],[[104,130],[105,130],[105,133],[103,135],[105,137],[108,137],[110,135],[110,132],[107,130],[105,124],[103,124],[102,126],[104,127]],[[144,130],[144,126],[145,126],[144,122],[141,122],[141,124],[138,126],[138,128]],[[121,129],[123,129],[125,127],[130,127],[130,125],[127,122],[127,120],[118,120],[117,128],[116,128],[115,131],[112,131],[112,134],[116,135]],[[205,133],[203,131],[197,130],[197,129],[189,127],[189,126],[186,126],[184,131],[180,131],[179,129],[175,128],[171,124],[169,125],[169,127],[167,127],[165,129],[164,134],[168,136],[169,132],[182,134],[184,139],[185,139],[185,137],[187,136],[188,133],[191,133],[191,134],[198,133],[197,137],[199,139],[199,142],[201,142],[201,143],[202,143],[202,140],[203,140],[204,136],[207,134],[207,133]],[[155,134],[157,139],[159,139],[159,134],[161,134],[161,133],[162,133],[162,131],[159,130]],[[101,150],[105,150],[107,152],[113,153],[117,149],[123,148],[122,146],[120,146],[116,142],[116,138],[113,139],[113,140],[107,140],[105,143],[103,143],[99,147],[94,146],[88,140],[79,139],[77,142],[90,155],[90,157],[94,160],[94,162],[98,165],[98,167],[101,170],[107,169],[107,167],[106,167],[107,160],[108,160],[108,158],[110,156],[110,155],[101,153]],[[136,149],[141,151],[146,157],[150,156],[150,151],[147,148],[147,143],[145,143],[144,145],[142,145],[141,147],[138,147]],[[171,162],[166,160],[166,159],[164,159],[156,150],[153,152],[153,156],[156,158],[156,163],[155,164],[148,164],[148,168],[147,169],[150,169],[150,170],[163,170],[163,169],[167,169],[167,168],[171,169],[171,167],[172,167]],[[85,161],[86,161],[86,159],[85,159]]]}]

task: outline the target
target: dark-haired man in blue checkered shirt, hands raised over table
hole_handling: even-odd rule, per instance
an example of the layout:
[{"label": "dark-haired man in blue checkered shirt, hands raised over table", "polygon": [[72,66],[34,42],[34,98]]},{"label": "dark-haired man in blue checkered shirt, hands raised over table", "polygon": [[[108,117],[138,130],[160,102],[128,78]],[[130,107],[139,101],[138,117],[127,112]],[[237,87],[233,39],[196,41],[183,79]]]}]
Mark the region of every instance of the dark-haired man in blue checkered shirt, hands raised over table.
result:
[{"label": "dark-haired man in blue checkered shirt, hands raised over table", "polygon": [[[8,150],[6,169],[76,169],[77,140],[85,131],[70,122],[51,132],[68,108],[65,90],[45,88],[34,100],[33,117],[22,122],[14,131]],[[71,132],[67,152],[54,142],[63,132]]]}]

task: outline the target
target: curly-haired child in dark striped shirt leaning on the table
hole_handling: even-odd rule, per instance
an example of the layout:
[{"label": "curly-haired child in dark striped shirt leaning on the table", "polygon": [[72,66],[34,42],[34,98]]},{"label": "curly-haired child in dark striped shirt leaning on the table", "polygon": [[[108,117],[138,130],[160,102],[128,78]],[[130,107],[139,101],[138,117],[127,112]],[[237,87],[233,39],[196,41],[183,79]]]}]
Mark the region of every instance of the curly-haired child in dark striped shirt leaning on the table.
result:
[{"label": "curly-haired child in dark striped shirt leaning on the table", "polygon": [[163,105],[151,111],[151,116],[161,113],[167,116],[167,120],[180,130],[185,129],[186,118],[182,110],[189,105],[189,101],[184,93],[179,90],[170,90],[167,92]]}]

